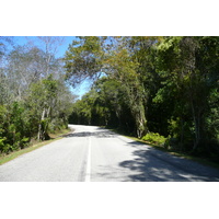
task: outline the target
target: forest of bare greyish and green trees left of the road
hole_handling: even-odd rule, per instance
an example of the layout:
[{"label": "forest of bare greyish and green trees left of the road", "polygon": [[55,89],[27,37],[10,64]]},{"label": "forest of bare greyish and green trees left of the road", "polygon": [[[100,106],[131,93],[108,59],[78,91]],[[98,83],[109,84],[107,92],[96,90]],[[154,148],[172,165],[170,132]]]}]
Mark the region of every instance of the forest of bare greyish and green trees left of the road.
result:
[{"label": "forest of bare greyish and green trees left of the road", "polygon": [[74,96],[65,82],[64,61],[56,58],[60,37],[38,41],[42,46],[19,46],[13,37],[0,37],[0,153],[67,128]]}]

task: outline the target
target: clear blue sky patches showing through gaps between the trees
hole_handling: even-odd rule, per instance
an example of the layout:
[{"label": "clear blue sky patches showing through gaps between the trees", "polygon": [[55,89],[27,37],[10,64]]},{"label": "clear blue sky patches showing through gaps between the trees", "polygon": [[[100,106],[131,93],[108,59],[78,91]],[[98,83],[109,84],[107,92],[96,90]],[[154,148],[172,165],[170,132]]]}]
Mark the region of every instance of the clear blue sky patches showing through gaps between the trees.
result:
[{"label": "clear blue sky patches showing through gaps between the trees", "polygon": [[[60,36],[62,37],[62,36]],[[65,56],[66,50],[68,49],[69,44],[76,39],[76,36],[64,36],[64,44],[58,48],[57,58]],[[36,36],[14,36],[14,43],[16,45],[25,45],[28,43],[28,39],[32,39],[34,44],[38,44],[38,39]],[[89,91],[90,83],[84,81],[82,84],[78,85],[76,89],[70,89],[73,94],[79,95],[81,97],[84,93]]]}]

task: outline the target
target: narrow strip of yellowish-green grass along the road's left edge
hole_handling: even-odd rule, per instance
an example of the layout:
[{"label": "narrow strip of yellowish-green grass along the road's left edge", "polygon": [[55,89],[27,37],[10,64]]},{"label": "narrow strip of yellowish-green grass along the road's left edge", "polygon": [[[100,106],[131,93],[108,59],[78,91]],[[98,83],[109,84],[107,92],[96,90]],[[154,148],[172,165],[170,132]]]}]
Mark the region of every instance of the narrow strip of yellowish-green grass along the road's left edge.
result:
[{"label": "narrow strip of yellowish-green grass along the road's left edge", "polygon": [[10,154],[0,154],[0,165],[3,164],[3,163],[7,163],[24,153],[27,153],[27,152],[31,152],[33,150],[36,150],[43,146],[46,146],[55,140],[59,140],[61,139],[61,135],[65,135],[65,134],[68,134],[70,132],[70,129],[62,129],[62,130],[59,130],[59,131],[56,131],[54,134],[49,134],[49,137],[50,137],[50,140],[45,140],[45,141],[42,141],[42,142],[38,142],[38,141],[34,141],[32,142],[32,145],[30,145],[27,148],[24,148],[22,150],[18,150],[18,151],[13,151],[11,152]]}]

